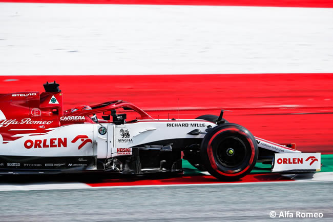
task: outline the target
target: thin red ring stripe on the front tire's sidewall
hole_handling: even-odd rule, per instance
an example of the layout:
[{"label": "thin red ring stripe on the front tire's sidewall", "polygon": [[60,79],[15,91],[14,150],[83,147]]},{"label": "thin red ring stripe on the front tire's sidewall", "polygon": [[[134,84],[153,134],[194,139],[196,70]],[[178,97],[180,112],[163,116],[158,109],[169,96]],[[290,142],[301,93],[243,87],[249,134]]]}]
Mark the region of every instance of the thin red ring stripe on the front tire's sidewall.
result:
[{"label": "thin red ring stripe on the front tire's sidewall", "polygon": [[[244,170],[242,170],[242,171],[240,171],[240,172],[238,172],[238,173],[224,173],[224,172],[222,172],[222,171],[220,171],[220,170],[218,169],[218,167],[217,167],[217,165],[216,165],[216,162],[215,162],[215,158],[214,158],[214,154],[213,154],[213,148],[212,148],[212,146],[211,146],[212,141],[213,141],[213,139],[214,139],[219,133],[224,132],[224,131],[227,131],[227,130],[230,130],[230,131],[236,131],[236,132],[238,132],[238,133],[243,134],[243,135],[246,137],[246,139],[247,139],[247,141],[249,142],[249,144],[251,145],[252,153],[251,153],[251,157],[250,157],[250,159],[249,159],[248,165],[247,165],[247,167],[246,167]],[[207,154],[208,154],[208,157],[209,157],[209,160],[210,160],[211,166],[212,166],[212,168],[213,168],[216,172],[218,172],[219,174],[224,175],[224,176],[238,176],[238,175],[242,174],[243,172],[245,172],[245,171],[251,166],[251,164],[253,163],[253,160],[254,160],[254,157],[255,157],[255,146],[254,146],[252,140],[251,140],[250,138],[248,138],[248,136],[246,135],[246,133],[240,131],[240,130],[237,129],[237,128],[230,127],[230,128],[222,129],[222,130],[216,132],[216,133],[212,136],[212,138],[211,138],[210,141],[208,142],[208,146],[207,146]]]}]

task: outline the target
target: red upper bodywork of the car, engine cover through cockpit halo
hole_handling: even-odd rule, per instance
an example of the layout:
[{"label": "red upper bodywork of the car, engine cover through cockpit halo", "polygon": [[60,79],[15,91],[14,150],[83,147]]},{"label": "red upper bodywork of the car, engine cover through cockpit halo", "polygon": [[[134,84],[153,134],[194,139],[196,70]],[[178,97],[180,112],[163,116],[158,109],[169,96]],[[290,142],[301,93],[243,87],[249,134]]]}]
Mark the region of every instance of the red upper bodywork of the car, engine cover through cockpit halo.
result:
[{"label": "red upper bodywork of the car, engine cover through cockpit halo", "polygon": [[[143,110],[122,100],[97,104],[91,108],[91,110],[78,110],[76,112],[64,111],[62,92],[0,94],[0,110],[5,116],[5,119],[0,119],[1,135],[4,140],[15,140],[18,137],[14,135],[19,133],[47,133],[50,128],[64,125],[94,123],[89,115],[118,108],[134,110],[140,115],[138,119],[153,119]],[[63,116],[84,116],[85,118],[77,120]]]}]

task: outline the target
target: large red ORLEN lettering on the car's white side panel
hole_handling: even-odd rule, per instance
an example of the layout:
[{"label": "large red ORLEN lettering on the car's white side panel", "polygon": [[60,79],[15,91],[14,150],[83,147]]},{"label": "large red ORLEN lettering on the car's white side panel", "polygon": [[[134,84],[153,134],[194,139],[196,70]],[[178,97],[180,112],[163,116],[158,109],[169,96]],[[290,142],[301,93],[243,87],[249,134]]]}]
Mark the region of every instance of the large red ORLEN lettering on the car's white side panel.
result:
[{"label": "large red ORLEN lettering on the car's white side panel", "polygon": [[67,147],[67,138],[50,138],[50,139],[28,139],[24,142],[24,147],[30,148],[56,148],[56,147]]}]

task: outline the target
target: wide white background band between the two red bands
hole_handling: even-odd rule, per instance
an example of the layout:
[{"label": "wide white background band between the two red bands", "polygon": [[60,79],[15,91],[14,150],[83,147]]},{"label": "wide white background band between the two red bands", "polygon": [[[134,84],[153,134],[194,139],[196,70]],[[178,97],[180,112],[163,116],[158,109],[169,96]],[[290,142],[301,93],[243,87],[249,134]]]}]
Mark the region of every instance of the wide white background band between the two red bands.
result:
[{"label": "wide white background band between the two red bands", "polygon": [[0,74],[333,72],[333,9],[0,3]]}]

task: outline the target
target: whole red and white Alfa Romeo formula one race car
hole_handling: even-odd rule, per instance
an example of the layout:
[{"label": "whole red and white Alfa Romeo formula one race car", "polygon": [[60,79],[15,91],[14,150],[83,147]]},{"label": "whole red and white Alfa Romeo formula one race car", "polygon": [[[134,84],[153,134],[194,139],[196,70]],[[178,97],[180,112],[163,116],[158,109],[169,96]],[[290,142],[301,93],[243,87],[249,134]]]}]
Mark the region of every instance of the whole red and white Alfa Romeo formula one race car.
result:
[{"label": "whole red and white Alfa Romeo formula one race car", "polygon": [[44,88],[0,94],[0,174],[177,173],[182,157],[222,180],[245,176],[257,162],[272,164],[272,172],[320,170],[320,153],[254,137],[223,119],[223,110],[153,119],[122,100],[63,110],[59,84]]}]

